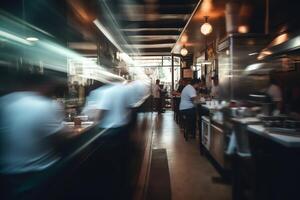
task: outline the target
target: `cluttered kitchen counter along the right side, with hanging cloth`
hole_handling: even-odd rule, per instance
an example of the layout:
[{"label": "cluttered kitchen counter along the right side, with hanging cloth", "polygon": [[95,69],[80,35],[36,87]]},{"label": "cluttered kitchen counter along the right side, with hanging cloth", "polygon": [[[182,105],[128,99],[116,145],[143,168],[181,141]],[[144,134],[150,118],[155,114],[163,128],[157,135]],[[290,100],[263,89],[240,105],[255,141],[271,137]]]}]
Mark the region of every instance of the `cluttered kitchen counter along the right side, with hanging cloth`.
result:
[{"label": "cluttered kitchen counter along the right side, with hanging cloth", "polygon": [[300,156],[299,121],[288,115],[266,116],[263,109],[239,106],[239,102],[234,106],[212,102],[197,104],[200,149],[223,178],[230,174],[233,199],[247,194],[257,199],[284,199],[287,192],[288,196],[295,194],[292,176],[300,177],[295,168],[300,166],[296,161]]}]

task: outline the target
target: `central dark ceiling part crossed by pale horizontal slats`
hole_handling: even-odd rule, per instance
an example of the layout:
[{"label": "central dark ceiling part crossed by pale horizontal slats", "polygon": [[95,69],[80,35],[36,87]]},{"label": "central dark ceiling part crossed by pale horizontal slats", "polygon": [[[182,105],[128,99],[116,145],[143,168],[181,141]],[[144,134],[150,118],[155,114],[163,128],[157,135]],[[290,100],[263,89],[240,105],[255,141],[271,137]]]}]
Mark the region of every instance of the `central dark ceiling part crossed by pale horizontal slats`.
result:
[{"label": "central dark ceiling part crossed by pale horizontal slats", "polygon": [[124,3],[117,14],[126,48],[140,55],[170,54],[198,0],[139,0]]}]

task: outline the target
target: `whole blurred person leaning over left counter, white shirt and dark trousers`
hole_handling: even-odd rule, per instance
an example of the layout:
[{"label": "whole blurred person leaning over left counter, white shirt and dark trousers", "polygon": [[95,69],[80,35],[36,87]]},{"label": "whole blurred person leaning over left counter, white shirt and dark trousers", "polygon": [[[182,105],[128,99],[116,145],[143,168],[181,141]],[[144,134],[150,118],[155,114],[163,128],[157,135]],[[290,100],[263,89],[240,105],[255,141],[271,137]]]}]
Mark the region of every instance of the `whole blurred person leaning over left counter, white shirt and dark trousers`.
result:
[{"label": "whole blurred person leaning over left counter, white shirt and dark trousers", "polygon": [[[90,102],[87,103],[89,108],[85,109],[87,113],[94,113],[92,116],[99,120],[100,129],[106,129],[101,135],[101,141],[105,141],[102,151],[107,152],[107,162],[103,162],[102,165],[113,166],[111,168],[115,170],[115,174],[118,174],[116,175],[118,180],[113,181],[112,184],[123,184],[124,189],[130,185],[127,183],[127,177],[129,176],[128,159],[132,148],[130,142],[132,108],[146,93],[146,87],[138,81],[102,86],[91,92],[88,98]],[[119,194],[112,194],[112,199],[122,199],[114,195]]]}]

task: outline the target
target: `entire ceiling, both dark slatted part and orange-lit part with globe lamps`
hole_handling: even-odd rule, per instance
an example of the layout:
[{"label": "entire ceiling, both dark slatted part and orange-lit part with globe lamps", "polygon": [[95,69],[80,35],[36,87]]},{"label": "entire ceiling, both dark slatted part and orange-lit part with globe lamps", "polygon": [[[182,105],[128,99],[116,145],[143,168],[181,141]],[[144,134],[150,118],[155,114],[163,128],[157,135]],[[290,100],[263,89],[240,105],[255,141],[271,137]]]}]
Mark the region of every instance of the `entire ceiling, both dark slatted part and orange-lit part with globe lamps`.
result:
[{"label": "entire ceiling, both dark slatted part and orange-lit part with globe lamps", "polygon": [[[189,52],[200,53],[205,43],[226,35],[227,0],[67,0],[88,22],[98,19],[129,55],[152,56],[179,54],[185,45]],[[259,2],[259,6],[253,6]],[[261,0],[242,0],[239,18],[261,27]],[[255,11],[255,12],[254,12]],[[249,14],[250,13],[250,14]],[[252,14],[254,13],[254,14]],[[248,16],[249,15],[249,16]],[[200,26],[208,16],[213,32],[204,37]],[[244,20],[245,19],[245,20]],[[257,32],[253,30],[253,32]]]}]

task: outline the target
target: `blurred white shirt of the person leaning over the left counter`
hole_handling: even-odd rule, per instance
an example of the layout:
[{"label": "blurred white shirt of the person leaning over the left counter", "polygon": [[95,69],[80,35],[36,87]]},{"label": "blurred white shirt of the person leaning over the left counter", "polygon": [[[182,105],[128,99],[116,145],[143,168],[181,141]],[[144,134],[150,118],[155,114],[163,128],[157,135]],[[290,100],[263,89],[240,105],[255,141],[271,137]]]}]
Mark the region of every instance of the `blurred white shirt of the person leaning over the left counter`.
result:
[{"label": "blurred white shirt of the person leaning over the left counter", "polygon": [[100,128],[123,127],[131,119],[132,107],[146,92],[146,87],[137,81],[105,85],[90,93],[82,113],[99,123]]}]

